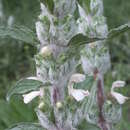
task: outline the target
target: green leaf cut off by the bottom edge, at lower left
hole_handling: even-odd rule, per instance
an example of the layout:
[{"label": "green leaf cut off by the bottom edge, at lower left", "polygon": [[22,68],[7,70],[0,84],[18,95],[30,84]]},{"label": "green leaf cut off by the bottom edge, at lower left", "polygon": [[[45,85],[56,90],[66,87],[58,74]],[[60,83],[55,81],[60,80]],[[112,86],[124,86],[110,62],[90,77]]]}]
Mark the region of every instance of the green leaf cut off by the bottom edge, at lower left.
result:
[{"label": "green leaf cut off by the bottom edge, at lower left", "polygon": [[39,124],[19,123],[6,130],[45,130]]}]

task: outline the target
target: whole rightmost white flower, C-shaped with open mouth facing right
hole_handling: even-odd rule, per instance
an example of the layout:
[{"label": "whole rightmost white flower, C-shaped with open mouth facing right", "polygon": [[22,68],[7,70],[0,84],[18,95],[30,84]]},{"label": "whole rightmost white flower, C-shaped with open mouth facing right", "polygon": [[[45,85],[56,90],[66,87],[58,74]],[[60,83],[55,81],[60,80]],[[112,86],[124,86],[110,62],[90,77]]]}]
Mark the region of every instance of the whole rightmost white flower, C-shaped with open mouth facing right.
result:
[{"label": "whole rightmost white flower, C-shaped with open mouth facing right", "polygon": [[119,87],[124,87],[125,86],[125,82],[124,81],[115,81],[112,84],[112,88],[111,88],[111,95],[117,100],[117,102],[119,104],[123,104],[125,103],[125,101],[127,99],[129,99],[128,97],[123,96],[122,94],[115,92],[114,88],[119,88]]}]

